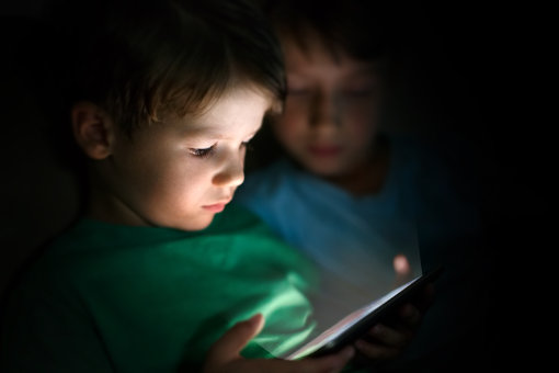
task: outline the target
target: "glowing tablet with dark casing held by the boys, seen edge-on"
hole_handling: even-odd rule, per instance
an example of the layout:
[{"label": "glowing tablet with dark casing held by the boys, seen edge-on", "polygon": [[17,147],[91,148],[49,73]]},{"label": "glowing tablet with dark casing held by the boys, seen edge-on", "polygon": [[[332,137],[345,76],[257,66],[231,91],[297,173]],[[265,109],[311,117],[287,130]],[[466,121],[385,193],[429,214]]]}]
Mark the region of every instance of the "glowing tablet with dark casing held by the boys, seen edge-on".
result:
[{"label": "glowing tablet with dark casing held by the boys, seen edge-on", "polygon": [[391,313],[396,312],[398,306],[412,299],[426,284],[435,281],[442,271],[443,268],[438,267],[435,270],[425,272],[375,302],[356,309],[310,342],[289,353],[285,359],[318,358],[340,351],[345,346],[366,335],[384,317],[388,317]]}]

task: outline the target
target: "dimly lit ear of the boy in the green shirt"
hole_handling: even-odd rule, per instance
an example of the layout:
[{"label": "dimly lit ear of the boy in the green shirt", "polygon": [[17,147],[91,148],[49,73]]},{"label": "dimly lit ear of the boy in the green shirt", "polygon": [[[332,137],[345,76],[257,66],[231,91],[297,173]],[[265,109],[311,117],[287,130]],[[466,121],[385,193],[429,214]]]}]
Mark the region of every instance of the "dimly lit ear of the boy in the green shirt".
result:
[{"label": "dimly lit ear of the boy in the green shirt", "polygon": [[92,159],[105,159],[111,155],[114,124],[99,105],[80,101],[72,106],[73,137],[83,152]]}]

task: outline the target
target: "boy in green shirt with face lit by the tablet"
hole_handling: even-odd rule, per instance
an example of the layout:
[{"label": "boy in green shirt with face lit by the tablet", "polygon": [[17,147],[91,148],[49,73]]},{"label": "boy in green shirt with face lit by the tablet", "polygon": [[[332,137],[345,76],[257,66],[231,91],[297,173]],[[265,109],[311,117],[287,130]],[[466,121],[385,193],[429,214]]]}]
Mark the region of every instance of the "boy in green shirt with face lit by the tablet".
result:
[{"label": "boy in green shirt with face lit by the tablet", "polygon": [[270,358],[259,341],[282,353],[312,329],[312,267],[226,208],[247,143],[285,91],[265,21],[242,1],[98,5],[73,14],[67,77],[85,214],[13,292],[2,371],[341,370],[353,349],[296,362],[239,354]]}]

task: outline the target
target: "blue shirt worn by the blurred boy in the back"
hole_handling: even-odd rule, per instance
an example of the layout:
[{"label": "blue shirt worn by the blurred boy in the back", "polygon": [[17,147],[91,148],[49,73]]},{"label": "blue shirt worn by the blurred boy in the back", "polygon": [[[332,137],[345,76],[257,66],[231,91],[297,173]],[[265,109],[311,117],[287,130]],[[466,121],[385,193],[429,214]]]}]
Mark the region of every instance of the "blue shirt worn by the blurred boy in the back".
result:
[{"label": "blue shirt worn by the blurred boy in the back", "polygon": [[[438,324],[445,334],[437,319],[459,305],[448,292],[464,287],[468,262],[468,251],[450,244],[475,235],[479,216],[468,194],[474,180],[455,172],[435,150],[392,138],[389,172],[376,194],[354,196],[288,160],[249,174],[238,190],[238,202],[318,263],[323,283],[313,302],[322,327],[392,289],[392,259],[404,253],[413,275],[445,267],[437,304],[423,323]],[[422,329],[433,336],[431,326]]]}]

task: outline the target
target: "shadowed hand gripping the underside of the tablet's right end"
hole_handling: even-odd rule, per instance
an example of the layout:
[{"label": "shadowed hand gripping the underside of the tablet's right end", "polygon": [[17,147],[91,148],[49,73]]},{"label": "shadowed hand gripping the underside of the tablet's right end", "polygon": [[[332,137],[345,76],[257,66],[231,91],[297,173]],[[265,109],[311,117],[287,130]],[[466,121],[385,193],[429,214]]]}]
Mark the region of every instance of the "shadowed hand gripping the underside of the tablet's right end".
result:
[{"label": "shadowed hand gripping the underside of the tablet's right end", "polygon": [[415,304],[407,303],[400,307],[397,321],[392,326],[375,325],[369,330],[367,340],[357,340],[355,348],[369,360],[389,360],[398,357],[412,341],[433,298],[434,286],[429,284]]}]

